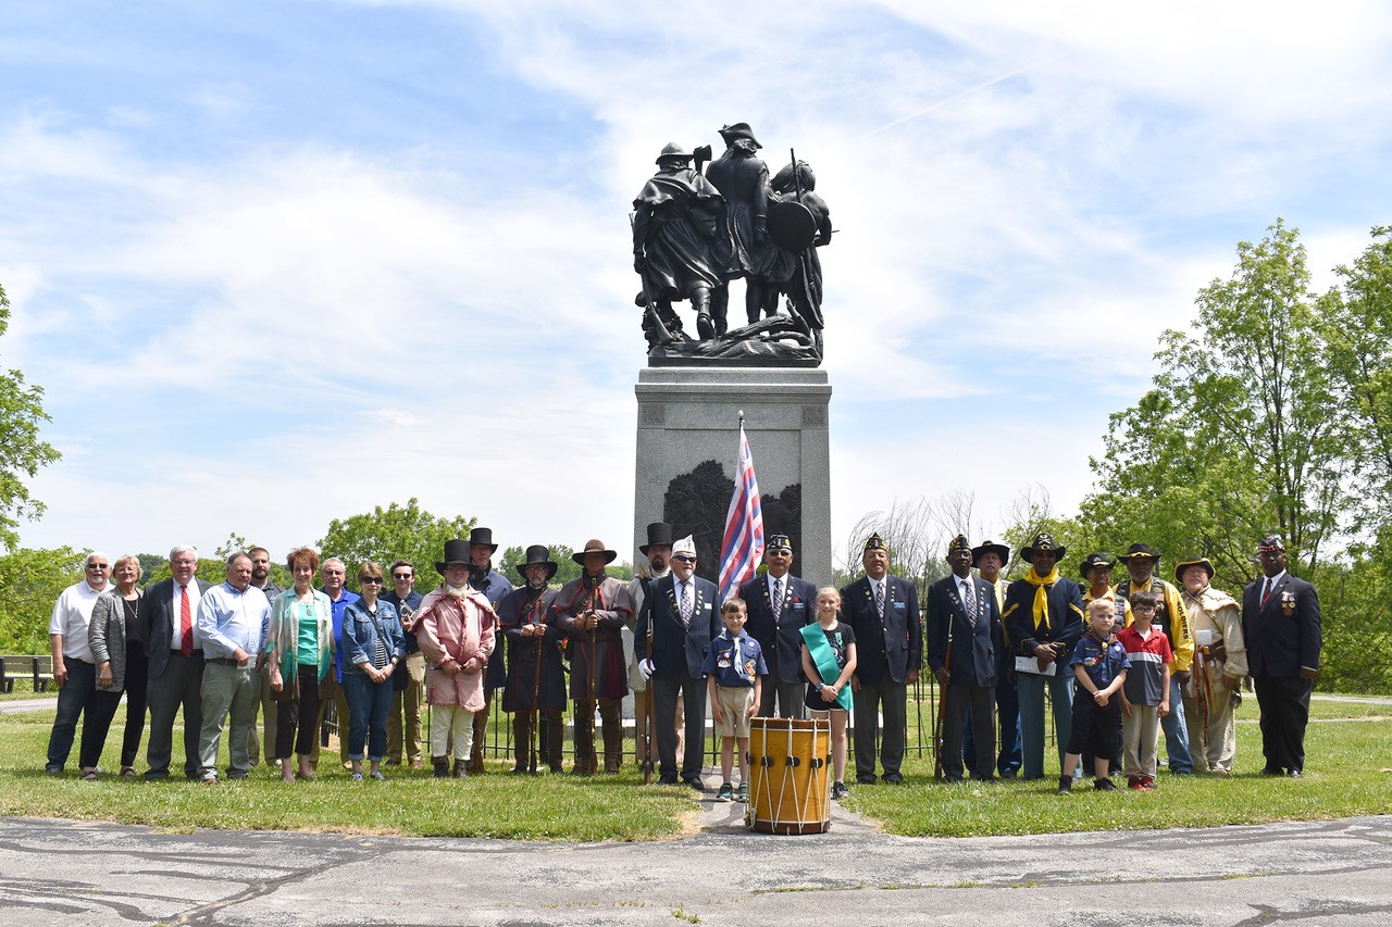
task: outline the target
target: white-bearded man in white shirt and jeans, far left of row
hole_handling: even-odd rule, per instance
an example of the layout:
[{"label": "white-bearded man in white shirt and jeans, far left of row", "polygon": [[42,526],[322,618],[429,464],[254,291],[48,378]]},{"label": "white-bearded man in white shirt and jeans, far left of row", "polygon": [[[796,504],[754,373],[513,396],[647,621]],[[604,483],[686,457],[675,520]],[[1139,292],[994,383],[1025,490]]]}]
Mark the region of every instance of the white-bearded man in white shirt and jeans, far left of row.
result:
[{"label": "white-bearded man in white shirt and jeans, far left of row", "polygon": [[86,576],[63,590],[49,621],[53,682],[58,686],[58,713],[53,718],[49,761],[43,767],[49,775],[63,774],[63,766],[72,752],[78,718],[85,714],[88,700],[96,690],[96,664],[92,663],[92,647],[88,646],[88,626],[92,624],[96,600],[106,592],[111,560],[100,551],[92,551],[82,568]]}]

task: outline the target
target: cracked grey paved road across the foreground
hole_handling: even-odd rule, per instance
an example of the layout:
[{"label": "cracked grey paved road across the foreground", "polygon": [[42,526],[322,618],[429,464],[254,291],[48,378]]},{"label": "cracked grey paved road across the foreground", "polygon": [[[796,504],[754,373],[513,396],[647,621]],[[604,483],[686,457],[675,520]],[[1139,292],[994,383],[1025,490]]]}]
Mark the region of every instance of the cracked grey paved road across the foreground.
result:
[{"label": "cracked grey paved road across the foreground", "polygon": [[848,820],[784,838],[706,809],[696,837],[589,845],[8,818],[0,923],[1392,923],[1392,817],[984,839]]}]

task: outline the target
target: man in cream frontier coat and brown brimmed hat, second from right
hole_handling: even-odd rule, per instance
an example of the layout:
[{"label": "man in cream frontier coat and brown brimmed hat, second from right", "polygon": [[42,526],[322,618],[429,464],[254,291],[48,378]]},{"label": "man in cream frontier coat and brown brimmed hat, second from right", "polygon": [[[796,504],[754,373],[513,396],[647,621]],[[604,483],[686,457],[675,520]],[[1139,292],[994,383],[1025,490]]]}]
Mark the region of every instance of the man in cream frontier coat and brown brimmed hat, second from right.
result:
[{"label": "man in cream frontier coat and brown brimmed hat, second from right", "polygon": [[1212,587],[1214,565],[1207,557],[1175,564],[1185,586],[1183,603],[1194,632],[1194,664],[1185,685],[1185,721],[1194,770],[1228,775],[1237,753],[1232,696],[1247,675],[1247,644],[1242,610],[1225,592]]}]

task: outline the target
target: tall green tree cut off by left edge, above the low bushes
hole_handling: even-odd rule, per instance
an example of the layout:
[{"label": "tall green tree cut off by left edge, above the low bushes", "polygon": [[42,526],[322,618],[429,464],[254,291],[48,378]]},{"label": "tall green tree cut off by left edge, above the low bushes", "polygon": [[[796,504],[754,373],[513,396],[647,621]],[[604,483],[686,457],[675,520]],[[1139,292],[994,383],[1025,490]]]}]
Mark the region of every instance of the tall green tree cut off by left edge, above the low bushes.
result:
[{"label": "tall green tree cut off by left edge, above the low bushes", "polygon": [[[10,327],[10,299],[0,287],[0,335]],[[49,422],[43,411],[43,387],[29,386],[18,370],[0,372],[0,544],[19,543],[19,519],[43,514],[43,502],[29,496],[21,475],[33,476],[40,466],[58,459],[52,444],[39,438],[39,426]]]}]

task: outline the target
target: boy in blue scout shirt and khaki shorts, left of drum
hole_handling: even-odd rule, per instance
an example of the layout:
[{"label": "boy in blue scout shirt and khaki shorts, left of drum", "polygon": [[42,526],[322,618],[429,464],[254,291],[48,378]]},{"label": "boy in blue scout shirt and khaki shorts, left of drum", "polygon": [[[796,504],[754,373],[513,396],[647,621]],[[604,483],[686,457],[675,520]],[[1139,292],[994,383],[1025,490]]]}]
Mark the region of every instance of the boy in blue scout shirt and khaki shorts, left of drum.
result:
[{"label": "boy in blue scout shirt and khaki shorts, left of drum", "polygon": [[749,800],[749,718],[759,710],[763,695],[764,653],[759,642],[745,633],[749,618],[745,600],[725,600],[720,619],[725,629],[710,642],[702,672],[710,678],[710,708],[720,735],[720,771],[722,775],[717,802],[735,798],[729,774],[735,766],[735,742],[739,742],[739,800]]}]

